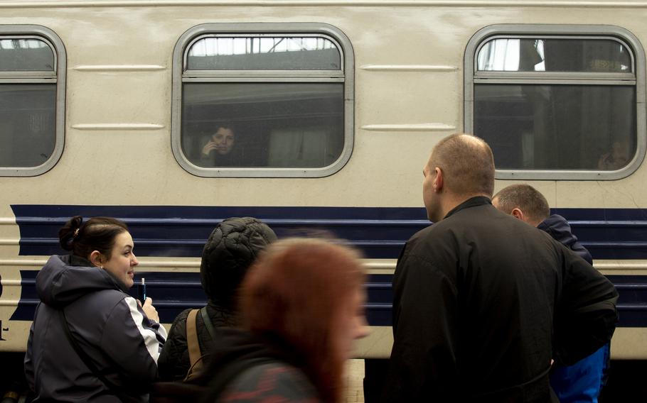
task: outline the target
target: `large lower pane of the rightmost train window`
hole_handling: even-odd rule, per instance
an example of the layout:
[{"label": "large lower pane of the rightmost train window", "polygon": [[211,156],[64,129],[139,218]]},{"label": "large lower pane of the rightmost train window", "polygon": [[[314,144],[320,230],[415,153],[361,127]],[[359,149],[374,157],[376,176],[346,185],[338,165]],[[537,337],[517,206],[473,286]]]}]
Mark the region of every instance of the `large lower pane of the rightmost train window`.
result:
[{"label": "large lower pane of the rightmost train window", "polygon": [[619,170],[636,154],[633,86],[474,86],[474,133],[500,170]]}]

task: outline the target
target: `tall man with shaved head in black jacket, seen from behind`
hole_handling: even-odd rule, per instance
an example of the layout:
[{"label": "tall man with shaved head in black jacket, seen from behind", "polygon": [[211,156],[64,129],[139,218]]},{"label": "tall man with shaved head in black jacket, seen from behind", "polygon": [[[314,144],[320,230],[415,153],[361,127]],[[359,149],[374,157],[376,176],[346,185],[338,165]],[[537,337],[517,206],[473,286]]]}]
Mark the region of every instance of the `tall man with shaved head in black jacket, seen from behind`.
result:
[{"label": "tall man with shaved head in black jacket, seen from behind", "polygon": [[393,277],[385,402],[557,402],[551,360],[574,363],[604,345],[617,292],[547,233],[491,204],[492,151],[441,140],[424,165],[434,225],[416,233]]}]

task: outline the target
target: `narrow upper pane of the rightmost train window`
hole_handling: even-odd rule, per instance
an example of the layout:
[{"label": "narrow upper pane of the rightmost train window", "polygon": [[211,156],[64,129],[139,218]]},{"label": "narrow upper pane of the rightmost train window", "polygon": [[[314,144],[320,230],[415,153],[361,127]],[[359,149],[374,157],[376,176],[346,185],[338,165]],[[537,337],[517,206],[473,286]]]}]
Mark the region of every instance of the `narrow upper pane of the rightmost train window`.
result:
[{"label": "narrow upper pane of the rightmost train window", "polygon": [[476,65],[479,71],[632,71],[629,49],[611,39],[497,38],[483,45]]}]

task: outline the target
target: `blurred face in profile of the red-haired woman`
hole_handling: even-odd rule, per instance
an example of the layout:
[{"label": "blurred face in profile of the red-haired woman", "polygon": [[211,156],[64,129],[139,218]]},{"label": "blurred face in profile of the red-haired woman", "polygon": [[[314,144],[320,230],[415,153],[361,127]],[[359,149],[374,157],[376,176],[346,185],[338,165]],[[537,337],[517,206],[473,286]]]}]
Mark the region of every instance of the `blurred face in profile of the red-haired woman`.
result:
[{"label": "blurred face in profile of the red-haired woman", "polygon": [[365,300],[366,292],[363,287],[357,287],[349,303],[341,307],[333,342],[345,360],[353,356],[354,341],[368,336],[368,324],[364,314]]}]

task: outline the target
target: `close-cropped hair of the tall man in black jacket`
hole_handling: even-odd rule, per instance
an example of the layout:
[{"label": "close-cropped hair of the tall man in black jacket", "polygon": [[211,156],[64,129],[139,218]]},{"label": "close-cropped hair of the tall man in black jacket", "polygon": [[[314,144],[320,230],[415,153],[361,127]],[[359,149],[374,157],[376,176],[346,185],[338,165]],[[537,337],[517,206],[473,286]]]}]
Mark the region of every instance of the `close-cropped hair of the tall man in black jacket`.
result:
[{"label": "close-cropped hair of the tall man in black jacket", "polygon": [[429,168],[443,172],[444,187],[461,195],[494,192],[494,157],[481,138],[456,133],[439,141],[429,159]]}]

